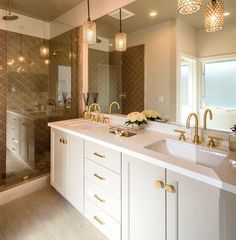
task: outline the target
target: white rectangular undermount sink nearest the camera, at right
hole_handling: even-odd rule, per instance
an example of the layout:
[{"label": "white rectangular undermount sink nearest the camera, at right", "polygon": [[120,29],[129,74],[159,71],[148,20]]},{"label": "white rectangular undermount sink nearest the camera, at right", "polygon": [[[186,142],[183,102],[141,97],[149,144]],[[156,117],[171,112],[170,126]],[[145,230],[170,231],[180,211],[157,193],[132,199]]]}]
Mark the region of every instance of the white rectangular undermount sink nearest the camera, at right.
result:
[{"label": "white rectangular undermount sink nearest the camera, at right", "polygon": [[211,151],[205,147],[171,139],[155,142],[145,148],[210,168],[216,168],[227,157],[224,152]]}]

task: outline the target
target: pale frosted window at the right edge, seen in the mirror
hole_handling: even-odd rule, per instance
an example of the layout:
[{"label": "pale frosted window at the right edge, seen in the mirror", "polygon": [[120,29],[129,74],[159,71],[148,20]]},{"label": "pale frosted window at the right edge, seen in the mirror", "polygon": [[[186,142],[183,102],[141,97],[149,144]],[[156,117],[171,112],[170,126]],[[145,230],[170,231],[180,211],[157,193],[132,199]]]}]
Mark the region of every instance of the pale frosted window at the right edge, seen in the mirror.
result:
[{"label": "pale frosted window at the right edge, seen in the mirror", "polygon": [[202,107],[236,109],[236,59],[203,62]]}]

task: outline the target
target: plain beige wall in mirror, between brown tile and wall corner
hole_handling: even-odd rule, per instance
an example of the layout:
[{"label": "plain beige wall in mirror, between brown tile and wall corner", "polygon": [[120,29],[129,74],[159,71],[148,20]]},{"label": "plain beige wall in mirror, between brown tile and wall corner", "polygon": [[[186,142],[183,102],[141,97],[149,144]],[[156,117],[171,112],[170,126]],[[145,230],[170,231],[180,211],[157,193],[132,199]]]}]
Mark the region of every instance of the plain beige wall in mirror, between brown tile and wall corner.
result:
[{"label": "plain beige wall in mirror, between brown tile and wall corner", "polygon": [[175,119],[176,22],[128,34],[128,46],[145,45],[145,108]]}]

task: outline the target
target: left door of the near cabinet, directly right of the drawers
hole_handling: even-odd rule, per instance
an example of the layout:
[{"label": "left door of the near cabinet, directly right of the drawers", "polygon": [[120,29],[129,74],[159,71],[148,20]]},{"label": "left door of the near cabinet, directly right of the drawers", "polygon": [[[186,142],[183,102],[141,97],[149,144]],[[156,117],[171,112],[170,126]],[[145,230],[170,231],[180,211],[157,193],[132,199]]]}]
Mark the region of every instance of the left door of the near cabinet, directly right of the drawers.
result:
[{"label": "left door of the near cabinet, directly right of the drawers", "polygon": [[165,239],[165,169],[123,155],[122,239]]}]

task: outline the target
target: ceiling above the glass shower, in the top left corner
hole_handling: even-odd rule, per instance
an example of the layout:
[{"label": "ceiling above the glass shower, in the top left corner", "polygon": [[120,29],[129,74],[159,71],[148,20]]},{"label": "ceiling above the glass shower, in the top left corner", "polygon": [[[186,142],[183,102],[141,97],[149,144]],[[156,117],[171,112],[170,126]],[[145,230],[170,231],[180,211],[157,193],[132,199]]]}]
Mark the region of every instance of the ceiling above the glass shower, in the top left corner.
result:
[{"label": "ceiling above the glass shower, in the top left corner", "polygon": [[[83,0],[13,0],[15,12],[52,21]],[[0,1],[0,8],[7,8],[7,0]]]}]

